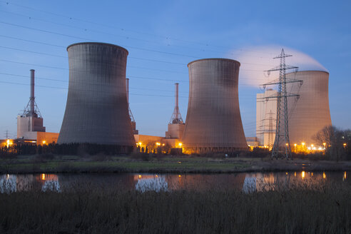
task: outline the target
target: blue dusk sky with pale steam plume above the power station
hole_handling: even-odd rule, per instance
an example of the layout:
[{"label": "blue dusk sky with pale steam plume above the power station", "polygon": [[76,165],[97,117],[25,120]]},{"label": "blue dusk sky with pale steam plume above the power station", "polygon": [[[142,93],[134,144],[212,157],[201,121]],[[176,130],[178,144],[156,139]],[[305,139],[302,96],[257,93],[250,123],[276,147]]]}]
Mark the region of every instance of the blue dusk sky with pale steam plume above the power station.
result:
[{"label": "blue dusk sky with pale steam plume above the power station", "polygon": [[128,49],[130,106],[141,134],[164,136],[179,83],[180,113],[188,108],[190,61],[240,61],[240,113],[255,136],[263,70],[285,48],[290,65],[330,72],[332,123],[351,128],[351,1],[1,1],[0,138],[16,137],[16,116],[36,103],[46,131],[59,132],[68,91],[66,47],[83,41]]}]

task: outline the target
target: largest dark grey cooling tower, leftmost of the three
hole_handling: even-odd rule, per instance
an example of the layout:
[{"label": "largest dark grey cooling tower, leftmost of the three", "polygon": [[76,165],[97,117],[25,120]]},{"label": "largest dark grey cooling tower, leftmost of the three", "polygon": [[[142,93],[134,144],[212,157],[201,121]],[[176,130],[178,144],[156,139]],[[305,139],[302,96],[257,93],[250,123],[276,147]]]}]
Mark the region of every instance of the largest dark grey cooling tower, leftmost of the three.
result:
[{"label": "largest dark grey cooling tower, leftmost of the three", "polygon": [[67,51],[68,97],[57,143],[135,146],[126,96],[128,51],[92,42]]}]

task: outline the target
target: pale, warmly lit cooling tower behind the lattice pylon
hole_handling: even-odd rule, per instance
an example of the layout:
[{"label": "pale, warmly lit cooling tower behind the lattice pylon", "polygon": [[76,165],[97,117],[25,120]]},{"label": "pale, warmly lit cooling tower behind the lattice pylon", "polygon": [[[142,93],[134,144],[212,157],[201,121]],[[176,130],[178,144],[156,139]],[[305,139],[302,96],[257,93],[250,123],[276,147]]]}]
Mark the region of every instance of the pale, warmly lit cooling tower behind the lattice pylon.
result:
[{"label": "pale, warmly lit cooling tower behind the lattice pylon", "polygon": [[290,144],[315,144],[312,136],[325,126],[330,126],[328,80],[325,71],[297,71],[286,74],[287,79],[303,81],[287,83],[287,91],[300,98],[288,98]]}]

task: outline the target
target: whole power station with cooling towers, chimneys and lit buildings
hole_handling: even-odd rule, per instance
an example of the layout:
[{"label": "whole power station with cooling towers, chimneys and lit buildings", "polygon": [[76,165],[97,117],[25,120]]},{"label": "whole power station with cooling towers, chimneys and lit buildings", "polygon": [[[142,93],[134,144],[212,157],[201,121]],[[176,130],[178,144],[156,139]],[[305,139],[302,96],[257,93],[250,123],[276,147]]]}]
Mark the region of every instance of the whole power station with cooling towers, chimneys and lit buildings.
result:
[{"label": "whole power station with cooling towers, chimneys and lit buildings", "polygon": [[[256,96],[256,136],[246,137],[240,116],[238,78],[240,62],[232,59],[200,59],[188,63],[188,112],[183,118],[175,105],[165,136],[141,135],[129,107],[128,51],[121,46],[83,42],[67,47],[69,84],[60,133],[48,133],[36,105],[34,70],[30,71],[30,98],[17,116],[19,143],[95,143],[135,148],[141,152],[230,153],[248,146],[273,148],[277,128],[279,91],[265,88]],[[329,73],[286,73],[290,143],[316,146],[313,136],[332,124],[328,100]],[[282,116],[279,116],[282,118]],[[280,123],[282,124],[282,123]],[[282,127],[283,128],[283,127]],[[10,139],[2,141],[9,146]],[[174,151],[178,149],[178,151]],[[294,147],[292,147],[292,150]],[[128,152],[128,151],[126,151]],[[172,151],[171,151],[172,152]]]}]

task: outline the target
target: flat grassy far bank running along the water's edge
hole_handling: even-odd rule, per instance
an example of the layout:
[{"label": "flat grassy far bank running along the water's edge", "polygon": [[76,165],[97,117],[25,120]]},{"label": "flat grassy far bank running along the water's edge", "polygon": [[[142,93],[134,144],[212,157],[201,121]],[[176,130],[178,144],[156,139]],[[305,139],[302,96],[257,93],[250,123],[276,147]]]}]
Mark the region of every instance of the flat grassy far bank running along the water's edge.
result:
[{"label": "flat grassy far bank running along the water's edge", "polygon": [[351,161],[198,156],[16,156],[0,158],[0,173],[239,173],[351,171]]}]

